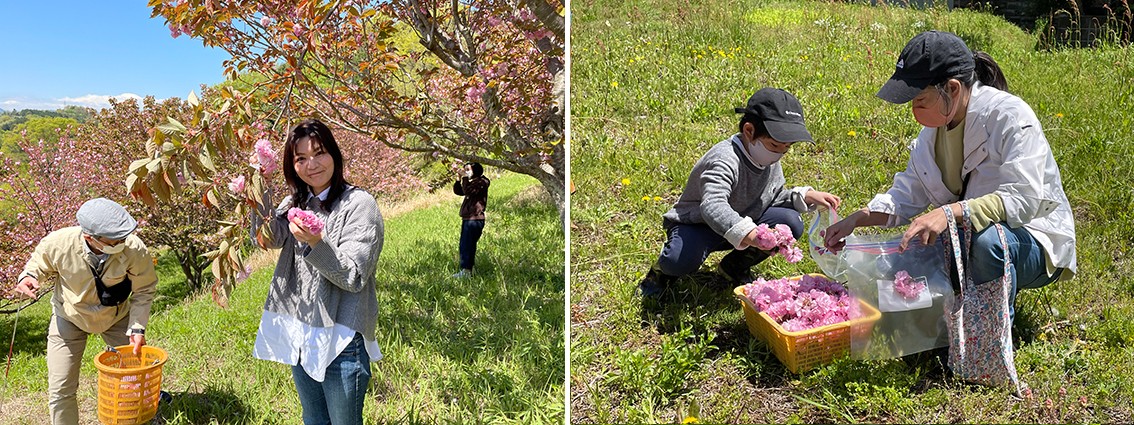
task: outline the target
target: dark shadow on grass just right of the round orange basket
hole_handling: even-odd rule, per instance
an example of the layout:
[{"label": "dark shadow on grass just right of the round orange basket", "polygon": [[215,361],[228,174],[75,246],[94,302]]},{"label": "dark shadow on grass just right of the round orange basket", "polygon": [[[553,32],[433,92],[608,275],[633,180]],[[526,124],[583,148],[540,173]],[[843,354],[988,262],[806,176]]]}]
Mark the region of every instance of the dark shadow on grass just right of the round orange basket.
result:
[{"label": "dark shadow on grass just right of the round orange basket", "polygon": [[261,419],[261,415],[256,415],[228,389],[209,385],[202,392],[175,392],[172,396],[168,405],[158,406],[154,424],[167,424],[174,419],[187,424],[245,424]]}]

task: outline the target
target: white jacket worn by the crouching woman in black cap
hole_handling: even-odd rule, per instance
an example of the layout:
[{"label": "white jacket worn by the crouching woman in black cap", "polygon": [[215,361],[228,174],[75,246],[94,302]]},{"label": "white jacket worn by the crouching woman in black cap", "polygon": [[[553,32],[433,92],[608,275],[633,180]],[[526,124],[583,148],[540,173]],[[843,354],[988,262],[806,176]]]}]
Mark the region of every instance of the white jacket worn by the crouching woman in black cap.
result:
[{"label": "white jacket worn by the crouching woman in black cap", "polygon": [[[894,175],[894,186],[868,204],[871,212],[891,215],[887,227],[906,224],[930,205],[960,201],[945,187],[933,160],[936,136],[936,128],[922,128],[909,146],[906,170]],[[1015,95],[975,83],[964,143],[964,198],[1000,195],[1008,226],[1027,229],[1043,246],[1048,271],[1065,267],[1060,280],[1070,279],[1077,269],[1075,220],[1059,167],[1032,108]]]}]

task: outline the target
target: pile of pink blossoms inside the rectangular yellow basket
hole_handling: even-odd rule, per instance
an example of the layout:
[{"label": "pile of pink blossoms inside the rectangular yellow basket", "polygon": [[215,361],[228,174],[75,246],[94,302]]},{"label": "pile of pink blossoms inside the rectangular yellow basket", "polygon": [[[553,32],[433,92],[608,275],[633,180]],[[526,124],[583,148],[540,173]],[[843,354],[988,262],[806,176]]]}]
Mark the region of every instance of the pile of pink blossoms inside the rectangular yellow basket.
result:
[{"label": "pile of pink blossoms inside the rectangular yellow basket", "polygon": [[838,282],[814,275],[756,279],[744,296],[789,332],[826,326],[861,316],[858,303]]}]

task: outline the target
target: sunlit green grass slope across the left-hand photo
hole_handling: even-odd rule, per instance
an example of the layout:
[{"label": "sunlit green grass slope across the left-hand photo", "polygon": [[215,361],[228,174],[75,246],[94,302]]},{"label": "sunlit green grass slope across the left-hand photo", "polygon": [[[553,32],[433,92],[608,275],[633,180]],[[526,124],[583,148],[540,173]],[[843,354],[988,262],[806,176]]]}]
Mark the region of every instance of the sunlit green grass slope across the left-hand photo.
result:
[{"label": "sunlit green grass slope across the left-hand photo", "polygon": [[[538,182],[496,178],[477,274],[457,271],[459,198],[387,218],[378,267],[379,346],[365,417],[375,423],[561,423],[564,413],[564,237]],[[150,343],[170,352],[163,389],[174,402],[166,424],[298,424],[290,368],[252,358],[272,266],[239,284],[228,309],[193,296],[172,256],[161,282]],[[40,424],[46,415],[49,303],[19,317],[16,359],[0,386],[0,423]],[[0,317],[10,332],[14,317]],[[10,338],[10,333],[5,333]],[[95,419],[93,356],[81,374],[81,411]]]}]

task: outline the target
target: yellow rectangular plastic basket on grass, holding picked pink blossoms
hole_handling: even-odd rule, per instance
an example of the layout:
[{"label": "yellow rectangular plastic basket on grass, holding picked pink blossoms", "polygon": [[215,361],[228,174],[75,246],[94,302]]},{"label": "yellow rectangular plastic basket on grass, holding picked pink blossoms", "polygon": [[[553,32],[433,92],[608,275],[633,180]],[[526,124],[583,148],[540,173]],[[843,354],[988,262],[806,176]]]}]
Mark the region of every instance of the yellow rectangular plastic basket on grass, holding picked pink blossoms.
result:
[{"label": "yellow rectangular plastic basket on grass, holding picked pink blossoms", "polygon": [[[827,278],[819,273],[811,275]],[[802,278],[793,277],[789,279],[799,280]],[[882,317],[877,308],[860,299],[862,316],[858,318],[790,332],[776,323],[767,313],[756,312],[752,300],[744,295],[743,286],[733,289],[733,295],[741,299],[741,306],[744,308],[744,321],[748,324],[748,333],[768,342],[776,357],[792,373],[801,373],[849,354],[852,337],[869,337],[874,329],[874,322]]]}]

